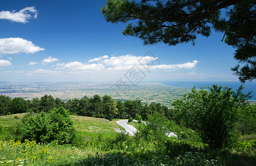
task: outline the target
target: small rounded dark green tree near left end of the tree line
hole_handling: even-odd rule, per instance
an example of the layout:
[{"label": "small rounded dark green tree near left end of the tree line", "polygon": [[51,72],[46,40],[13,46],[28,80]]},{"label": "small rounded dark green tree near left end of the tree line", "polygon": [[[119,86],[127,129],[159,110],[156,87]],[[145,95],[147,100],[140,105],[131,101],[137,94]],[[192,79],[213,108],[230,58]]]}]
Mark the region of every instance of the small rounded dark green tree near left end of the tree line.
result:
[{"label": "small rounded dark green tree near left end of the tree line", "polygon": [[24,113],[28,110],[28,103],[21,97],[15,97],[8,103],[7,109],[11,114]]}]

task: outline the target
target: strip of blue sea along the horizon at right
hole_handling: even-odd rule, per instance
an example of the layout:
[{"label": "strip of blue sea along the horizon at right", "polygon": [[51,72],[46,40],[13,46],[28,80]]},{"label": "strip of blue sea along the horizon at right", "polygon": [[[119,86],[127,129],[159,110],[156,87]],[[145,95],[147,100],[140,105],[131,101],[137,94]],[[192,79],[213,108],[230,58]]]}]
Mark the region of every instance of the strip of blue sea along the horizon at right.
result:
[{"label": "strip of blue sea along the horizon at right", "polygon": [[[161,84],[186,88],[192,88],[194,85],[196,86],[196,88],[200,88],[203,86],[212,86],[213,84],[218,84],[231,87],[232,89],[234,89],[234,91],[236,91],[241,85],[239,81],[162,81]],[[242,92],[244,94],[247,94],[249,91],[253,91],[253,97],[250,100],[256,100],[256,81],[245,82],[243,86],[245,87],[245,89],[243,89]]]}]

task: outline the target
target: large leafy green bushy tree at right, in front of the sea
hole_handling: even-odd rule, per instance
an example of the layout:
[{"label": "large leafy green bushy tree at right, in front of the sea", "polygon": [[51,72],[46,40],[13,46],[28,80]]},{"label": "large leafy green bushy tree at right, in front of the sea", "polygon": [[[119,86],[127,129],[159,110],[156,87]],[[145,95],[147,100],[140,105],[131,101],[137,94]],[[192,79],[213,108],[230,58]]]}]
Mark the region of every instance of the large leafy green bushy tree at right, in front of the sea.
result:
[{"label": "large leafy green bushy tree at right, in front of the sea", "polygon": [[242,94],[242,85],[235,93],[228,87],[213,85],[185,94],[173,106],[177,119],[197,131],[204,143],[222,148],[231,143],[232,132],[239,115],[239,107],[247,104],[249,94]]}]

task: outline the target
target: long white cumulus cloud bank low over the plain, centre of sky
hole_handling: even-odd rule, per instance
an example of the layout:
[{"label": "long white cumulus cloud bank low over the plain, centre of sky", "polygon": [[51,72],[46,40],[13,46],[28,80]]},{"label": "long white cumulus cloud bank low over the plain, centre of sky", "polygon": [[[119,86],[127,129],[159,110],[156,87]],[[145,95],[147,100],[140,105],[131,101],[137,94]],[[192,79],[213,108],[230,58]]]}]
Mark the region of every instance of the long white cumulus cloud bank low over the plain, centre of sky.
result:
[{"label": "long white cumulus cloud bank low over the plain, centre of sky", "polygon": [[107,55],[94,58],[88,62],[95,62],[93,64],[84,64],[79,61],[73,61],[70,63],[58,63],[56,69],[63,69],[68,71],[126,71],[130,70],[132,66],[137,65],[139,68],[147,70],[165,70],[173,71],[180,69],[192,69],[198,63],[194,60],[192,63],[173,64],[173,65],[158,65],[159,61],[157,57],[152,56],[133,56],[122,55],[112,56],[109,58]]}]

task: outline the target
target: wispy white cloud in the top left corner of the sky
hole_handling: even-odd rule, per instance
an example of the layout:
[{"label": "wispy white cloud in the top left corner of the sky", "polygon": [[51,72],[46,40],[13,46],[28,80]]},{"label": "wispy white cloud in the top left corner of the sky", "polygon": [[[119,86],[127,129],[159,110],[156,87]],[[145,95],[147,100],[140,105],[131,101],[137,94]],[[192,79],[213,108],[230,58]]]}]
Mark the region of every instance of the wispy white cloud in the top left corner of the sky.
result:
[{"label": "wispy white cloud in the top left corner of the sky", "polygon": [[0,19],[8,19],[12,22],[18,23],[27,23],[28,19],[37,18],[38,12],[35,7],[26,7],[21,9],[19,12],[9,12],[9,11],[2,11],[0,12]]}]

